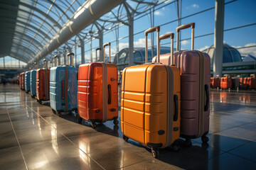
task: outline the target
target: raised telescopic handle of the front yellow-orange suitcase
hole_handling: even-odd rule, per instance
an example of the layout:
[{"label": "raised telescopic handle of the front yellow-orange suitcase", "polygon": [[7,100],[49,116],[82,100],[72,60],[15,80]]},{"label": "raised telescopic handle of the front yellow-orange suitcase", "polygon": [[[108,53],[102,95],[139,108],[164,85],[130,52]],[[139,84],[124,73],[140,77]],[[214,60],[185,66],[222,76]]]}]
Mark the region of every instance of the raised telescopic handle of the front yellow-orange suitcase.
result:
[{"label": "raised telescopic handle of the front yellow-orange suitcase", "polygon": [[145,30],[145,37],[146,37],[146,46],[145,46],[145,62],[147,63],[148,62],[148,45],[147,45],[147,36],[149,33],[153,33],[154,31],[157,32],[157,37],[156,37],[156,45],[157,45],[157,48],[156,48],[156,62],[160,62],[160,40],[159,40],[159,32],[160,32],[160,26],[156,26],[156,27],[152,27],[152,28],[149,28],[147,30]]}]

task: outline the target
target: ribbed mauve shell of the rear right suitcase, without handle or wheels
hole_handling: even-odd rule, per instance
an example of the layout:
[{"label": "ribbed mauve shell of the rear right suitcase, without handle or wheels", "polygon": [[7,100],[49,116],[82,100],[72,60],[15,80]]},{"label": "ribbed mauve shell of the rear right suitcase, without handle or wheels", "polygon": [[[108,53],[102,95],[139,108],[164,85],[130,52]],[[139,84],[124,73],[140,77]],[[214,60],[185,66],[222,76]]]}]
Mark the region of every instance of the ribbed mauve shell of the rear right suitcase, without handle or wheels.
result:
[{"label": "ribbed mauve shell of the rear right suitcase, without handle or wheels", "polygon": [[[208,85],[208,92],[210,93],[210,57],[205,52],[202,53],[205,68],[203,84]],[[199,58],[197,51],[183,50],[174,52],[174,63],[181,74],[181,136],[186,138],[201,137],[209,131],[210,109],[203,111],[203,114],[199,112]],[[162,64],[169,64],[169,59],[170,53],[160,56]],[[152,62],[155,61],[156,57],[153,58]],[[206,104],[206,97],[202,103]],[[201,128],[200,120],[203,121]],[[200,129],[202,130],[201,132],[199,132]]]}]

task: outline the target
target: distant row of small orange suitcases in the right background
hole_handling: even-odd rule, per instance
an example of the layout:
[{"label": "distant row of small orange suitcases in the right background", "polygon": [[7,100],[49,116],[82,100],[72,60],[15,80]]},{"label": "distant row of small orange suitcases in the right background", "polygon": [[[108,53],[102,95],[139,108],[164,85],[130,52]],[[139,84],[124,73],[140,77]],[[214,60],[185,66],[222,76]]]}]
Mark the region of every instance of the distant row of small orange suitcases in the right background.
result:
[{"label": "distant row of small orange suitcases in the right background", "polygon": [[251,74],[250,77],[211,77],[210,87],[220,89],[256,89],[255,75]]}]

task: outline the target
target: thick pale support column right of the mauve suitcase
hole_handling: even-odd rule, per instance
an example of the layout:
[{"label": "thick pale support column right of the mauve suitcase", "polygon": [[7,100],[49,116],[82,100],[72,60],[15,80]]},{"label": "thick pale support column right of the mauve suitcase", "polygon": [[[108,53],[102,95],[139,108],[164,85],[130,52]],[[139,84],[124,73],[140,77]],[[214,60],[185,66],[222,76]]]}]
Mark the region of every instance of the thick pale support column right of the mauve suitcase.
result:
[{"label": "thick pale support column right of the mauve suitcase", "polygon": [[224,27],[224,6],[225,1],[215,0],[215,30],[213,56],[213,77],[222,77],[223,69],[223,27]]}]

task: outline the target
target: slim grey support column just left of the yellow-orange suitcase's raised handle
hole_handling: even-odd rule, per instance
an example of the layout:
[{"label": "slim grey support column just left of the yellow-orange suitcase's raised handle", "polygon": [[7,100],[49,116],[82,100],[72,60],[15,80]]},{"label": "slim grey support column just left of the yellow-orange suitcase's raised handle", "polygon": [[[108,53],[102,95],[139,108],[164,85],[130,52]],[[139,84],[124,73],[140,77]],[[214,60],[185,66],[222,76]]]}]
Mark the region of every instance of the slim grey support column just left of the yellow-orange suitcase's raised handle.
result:
[{"label": "slim grey support column just left of the yellow-orange suitcase's raised handle", "polygon": [[129,66],[134,65],[134,18],[129,17]]}]

